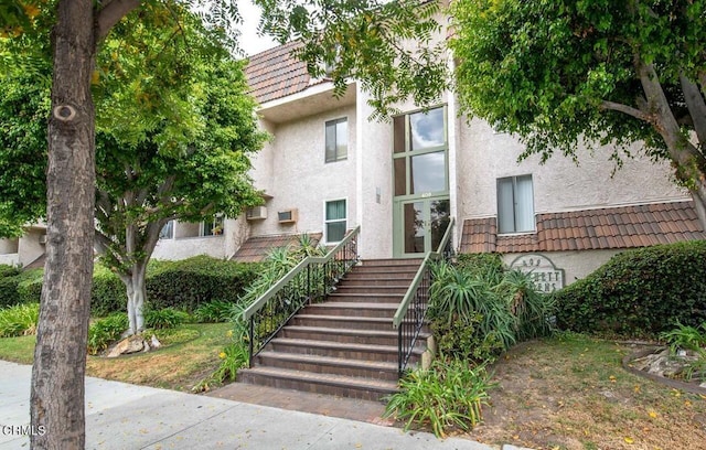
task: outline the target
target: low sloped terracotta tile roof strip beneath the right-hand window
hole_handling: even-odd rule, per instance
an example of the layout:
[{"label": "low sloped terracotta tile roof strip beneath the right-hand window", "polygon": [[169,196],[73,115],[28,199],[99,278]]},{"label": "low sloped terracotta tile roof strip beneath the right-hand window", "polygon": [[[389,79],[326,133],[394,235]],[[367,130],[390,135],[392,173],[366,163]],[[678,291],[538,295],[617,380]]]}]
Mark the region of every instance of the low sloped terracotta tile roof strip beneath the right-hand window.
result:
[{"label": "low sloped terracotta tile roof strip beneath the right-hand window", "polygon": [[466,219],[460,251],[616,249],[706,239],[693,202],[538,214],[536,219],[536,233],[500,236],[495,217]]}]

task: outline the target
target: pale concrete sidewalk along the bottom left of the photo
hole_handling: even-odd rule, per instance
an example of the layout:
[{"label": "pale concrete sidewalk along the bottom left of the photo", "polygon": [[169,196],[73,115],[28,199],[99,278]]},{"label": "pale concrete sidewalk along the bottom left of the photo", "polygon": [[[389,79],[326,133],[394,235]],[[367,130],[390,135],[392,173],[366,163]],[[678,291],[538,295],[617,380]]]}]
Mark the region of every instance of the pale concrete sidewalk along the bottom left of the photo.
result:
[{"label": "pale concrete sidewalk along the bottom left of the photo", "polygon": [[[31,366],[0,361],[0,449],[26,449]],[[51,432],[51,430],[47,430]],[[461,438],[86,378],[87,449],[469,449]],[[504,446],[503,450],[514,449]]]}]

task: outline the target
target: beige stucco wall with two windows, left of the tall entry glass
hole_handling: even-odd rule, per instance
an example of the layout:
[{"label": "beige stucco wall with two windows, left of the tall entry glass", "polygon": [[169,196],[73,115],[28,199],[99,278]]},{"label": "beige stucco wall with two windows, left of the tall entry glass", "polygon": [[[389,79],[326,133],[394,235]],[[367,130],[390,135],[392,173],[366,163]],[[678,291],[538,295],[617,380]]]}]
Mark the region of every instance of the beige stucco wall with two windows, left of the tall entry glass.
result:
[{"label": "beige stucco wall with two windows, left of the tall entry glass", "polygon": [[[347,159],[324,161],[325,122],[347,118]],[[268,217],[250,221],[252,235],[320,233],[323,231],[324,202],[345,199],[349,228],[356,217],[355,106],[303,117],[285,124],[264,124],[274,138],[254,159],[252,176],[257,189],[272,199],[266,203]],[[277,213],[298,210],[295,224],[279,224]]]}]

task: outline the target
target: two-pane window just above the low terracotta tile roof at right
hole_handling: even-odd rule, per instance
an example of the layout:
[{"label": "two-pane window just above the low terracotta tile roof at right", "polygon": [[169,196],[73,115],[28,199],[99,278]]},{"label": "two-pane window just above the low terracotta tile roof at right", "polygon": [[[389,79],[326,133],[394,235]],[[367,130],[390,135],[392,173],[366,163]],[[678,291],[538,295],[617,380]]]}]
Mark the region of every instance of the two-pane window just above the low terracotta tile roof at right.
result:
[{"label": "two-pane window just above the low terracotta tile roof at right", "polygon": [[498,179],[498,229],[501,234],[534,232],[532,175]]}]

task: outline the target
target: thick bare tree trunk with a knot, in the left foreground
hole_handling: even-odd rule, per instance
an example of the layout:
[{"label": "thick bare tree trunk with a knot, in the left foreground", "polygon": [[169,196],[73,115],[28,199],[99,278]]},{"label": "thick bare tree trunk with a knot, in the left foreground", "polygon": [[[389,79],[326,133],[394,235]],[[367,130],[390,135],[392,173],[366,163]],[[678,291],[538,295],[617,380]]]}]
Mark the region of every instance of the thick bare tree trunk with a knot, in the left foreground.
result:
[{"label": "thick bare tree trunk with a knot, in the left foreground", "polygon": [[53,32],[46,265],[30,406],[34,449],[85,446],[84,375],[95,202],[93,6],[92,0],[60,1]]}]

